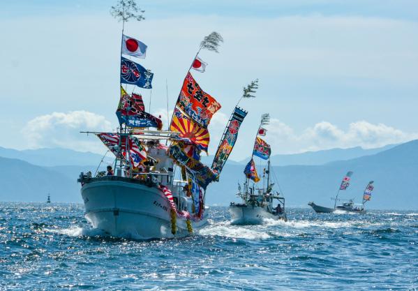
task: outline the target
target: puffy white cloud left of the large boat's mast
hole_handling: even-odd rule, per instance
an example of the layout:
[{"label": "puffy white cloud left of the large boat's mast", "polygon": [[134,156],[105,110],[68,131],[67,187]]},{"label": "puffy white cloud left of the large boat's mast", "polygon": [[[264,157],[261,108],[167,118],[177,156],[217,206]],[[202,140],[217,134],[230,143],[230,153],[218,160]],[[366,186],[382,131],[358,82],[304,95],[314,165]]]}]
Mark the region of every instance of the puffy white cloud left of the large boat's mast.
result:
[{"label": "puffy white cloud left of the large boat's mast", "polygon": [[27,122],[22,134],[27,139],[27,147],[63,147],[76,151],[103,152],[95,137],[87,137],[80,131],[109,131],[112,124],[105,117],[87,111],[52,112]]}]

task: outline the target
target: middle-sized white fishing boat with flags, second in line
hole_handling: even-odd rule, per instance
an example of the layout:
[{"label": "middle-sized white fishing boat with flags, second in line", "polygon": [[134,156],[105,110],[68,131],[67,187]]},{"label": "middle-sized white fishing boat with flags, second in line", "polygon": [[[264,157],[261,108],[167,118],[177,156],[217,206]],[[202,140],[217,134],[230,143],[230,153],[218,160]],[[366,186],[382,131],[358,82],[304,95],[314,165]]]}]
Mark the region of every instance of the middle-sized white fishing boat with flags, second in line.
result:
[{"label": "middle-sized white fishing boat with flags, second in line", "polygon": [[[262,121],[257,131],[255,138],[255,145],[253,149],[253,156],[258,156],[264,160],[268,159],[267,170],[263,170],[263,185],[262,188],[256,188],[255,184],[250,186],[250,180],[255,183],[260,181],[253,156],[251,161],[246,165],[244,174],[246,174],[246,182],[241,191],[239,185],[239,192],[237,196],[241,199],[240,203],[231,202],[228,211],[231,215],[231,223],[236,225],[257,225],[262,224],[266,219],[287,221],[288,218],[285,213],[285,198],[278,191],[273,190],[274,183],[271,183],[270,175],[270,154],[271,149],[267,142],[261,139],[266,131],[262,126],[268,124],[269,114],[262,115]],[[267,177],[267,187],[264,188],[264,182]],[[276,206],[277,205],[277,206]],[[276,206],[276,207],[275,207]]]}]

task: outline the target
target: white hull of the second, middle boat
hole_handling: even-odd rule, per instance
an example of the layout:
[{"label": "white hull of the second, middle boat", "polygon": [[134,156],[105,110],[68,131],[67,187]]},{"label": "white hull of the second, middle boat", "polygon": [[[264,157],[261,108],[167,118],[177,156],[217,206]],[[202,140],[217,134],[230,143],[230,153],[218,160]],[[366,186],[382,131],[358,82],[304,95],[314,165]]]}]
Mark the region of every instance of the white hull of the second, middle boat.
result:
[{"label": "white hull of the second, middle boat", "polygon": [[274,219],[275,221],[287,221],[285,214],[274,215],[266,211],[263,207],[246,204],[231,205],[228,211],[231,214],[231,224],[233,225],[260,225],[264,219]]}]

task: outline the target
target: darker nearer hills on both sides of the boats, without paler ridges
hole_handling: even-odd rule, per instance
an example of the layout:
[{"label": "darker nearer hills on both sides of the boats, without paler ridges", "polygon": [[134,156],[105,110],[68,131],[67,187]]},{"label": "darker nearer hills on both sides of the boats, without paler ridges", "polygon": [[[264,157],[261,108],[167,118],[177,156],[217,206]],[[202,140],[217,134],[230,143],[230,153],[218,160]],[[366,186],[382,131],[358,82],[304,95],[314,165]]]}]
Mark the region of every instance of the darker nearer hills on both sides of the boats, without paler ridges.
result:
[{"label": "darker nearer hills on both sides of the boats, without paler ridges", "polygon": [[[0,158],[0,200],[42,202],[51,193],[53,201],[82,202],[76,180],[80,172],[87,170],[94,172],[96,166],[40,167]],[[235,193],[238,182],[244,181],[243,170],[243,165],[227,163],[220,181],[209,185],[207,203],[228,205],[237,201]],[[271,172],[277,177],[288,206],[308,207],[309,201],[331,206],[329,198],[336,195],[348,170],[354,171],[352,184],[347,191],[341,191],[342,198],[361,202],[364,187],[374,180],[375,192],[367,204],[369,209],[418,209],[418,140],[371,156],[326,165],[274,166]]]}]

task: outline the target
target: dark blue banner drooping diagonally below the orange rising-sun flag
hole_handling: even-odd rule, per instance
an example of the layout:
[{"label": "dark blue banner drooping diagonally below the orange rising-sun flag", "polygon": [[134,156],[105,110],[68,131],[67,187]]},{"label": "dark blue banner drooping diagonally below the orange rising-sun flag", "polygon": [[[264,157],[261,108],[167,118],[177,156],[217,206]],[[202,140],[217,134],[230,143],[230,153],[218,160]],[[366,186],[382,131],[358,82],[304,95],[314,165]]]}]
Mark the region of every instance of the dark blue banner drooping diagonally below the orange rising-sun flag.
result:
[{"label": "dark blue banner drooping diagonally below the orange rising-sun flag", "polygon": [[197,179],[197,183],[204,189],[218,177],[217,174],[200,161],[189,158],[179,144],[172,144],[168,154],[173,158],[177,165],[186,167],[186,169]]}]

